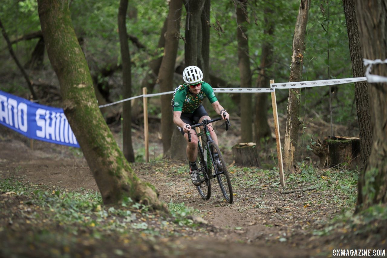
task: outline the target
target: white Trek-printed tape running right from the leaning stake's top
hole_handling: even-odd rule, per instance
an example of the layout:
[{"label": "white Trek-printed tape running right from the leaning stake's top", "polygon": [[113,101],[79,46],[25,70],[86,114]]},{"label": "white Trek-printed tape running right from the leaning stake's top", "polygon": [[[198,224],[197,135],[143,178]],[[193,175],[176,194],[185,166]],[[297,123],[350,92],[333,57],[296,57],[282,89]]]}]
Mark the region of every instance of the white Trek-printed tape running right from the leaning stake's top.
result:
[{"label": "white Trek-printed tape running right from the leaning stake's top", "polygon": [[343,83],[354,83],[358,81],[366,81],[366,77],[356,77],[356,78],[345,78],[345,79],[332,79],[332,80],[322,80],[322,81],[297,81],[293,83],[271,83],[272,88],[278,89],[290,89],[290,88],[307,88],[307,87],[317,87],[317,86],[327,86],[334,84],[343,84]]}]

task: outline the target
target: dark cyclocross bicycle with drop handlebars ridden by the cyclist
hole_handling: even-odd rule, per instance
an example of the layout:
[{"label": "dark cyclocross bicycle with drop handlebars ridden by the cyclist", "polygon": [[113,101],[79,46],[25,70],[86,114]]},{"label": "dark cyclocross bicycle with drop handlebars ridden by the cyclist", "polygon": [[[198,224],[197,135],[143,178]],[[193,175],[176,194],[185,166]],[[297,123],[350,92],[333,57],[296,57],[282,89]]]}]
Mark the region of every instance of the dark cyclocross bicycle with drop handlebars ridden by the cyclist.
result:
[{"label": "dark cyclocross bicycle with drop handlebars ridden by the cyclist", "polygon": [[[204,150],[207,150],[207,161],[205,161],[204,150],[200,144],[200,141],[198,141],[197,167],[199,169],[199,177],[202,183],[199,186],[196,186],[196,188],[200,196],[202,196],[204,200],[208,200],[211,197],[211,179],[216,177],[224,198],[228,203],[232,203],[233,187],[231,186],[230,175],[228,173],[222,153],[210,135],[211,128],[209,127],[211,126],[209,124],[219,120],[222,120],[222,117],[211,120],[203,119],[201,123],[191,126],[192,129],[195,127],[203,126],[202,131],[199,132],[197,136],[202,136],[202,139],[204,140],[203,145],[205,145]],[[231,126],[231,124],[227,119],[226,131],[228,130],[229,126]],[[188,141],[191,141],[190,134],[188,134]],[[212,168],[214,169],[214,173],[211,172]]]}]

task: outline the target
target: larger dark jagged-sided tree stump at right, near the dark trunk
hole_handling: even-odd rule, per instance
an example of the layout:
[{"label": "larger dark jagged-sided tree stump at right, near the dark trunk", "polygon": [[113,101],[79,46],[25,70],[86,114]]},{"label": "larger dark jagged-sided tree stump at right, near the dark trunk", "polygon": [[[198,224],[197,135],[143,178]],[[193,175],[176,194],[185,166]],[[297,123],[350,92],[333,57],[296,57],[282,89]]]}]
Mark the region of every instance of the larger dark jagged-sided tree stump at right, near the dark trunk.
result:
[{"label": "larger dark jagged-sided tree stump at right, near the dark trunk", "polygon": [[356,169],[360,157],[360,139],[346,136],[328,136],[321,143],[311,144],[314,154],[319,156],[319,167],[342,167]]}]

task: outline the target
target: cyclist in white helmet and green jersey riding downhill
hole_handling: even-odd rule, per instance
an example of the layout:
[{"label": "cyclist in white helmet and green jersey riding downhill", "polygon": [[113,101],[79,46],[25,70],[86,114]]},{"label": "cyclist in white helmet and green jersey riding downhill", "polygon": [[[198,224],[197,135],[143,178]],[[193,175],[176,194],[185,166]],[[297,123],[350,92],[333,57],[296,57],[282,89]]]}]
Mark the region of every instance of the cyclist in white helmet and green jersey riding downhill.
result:
[{"label": "cyclist in white helmet and green jersey riding downhill", "polygon": [[[195,186],[199,186],[201,181],[199,178],[199,169],[196,164],[198,137],[196,131],[191,129],[191,125],[194,124],[194,121],[195,123],[200,123],[205,118],[208,120],[211,119],[202,106],[202,101],[207,97],[217,114],[221,115],[223,119],[229,119],[230,117],[227,111],[219,104],[211,85],[202,81],[202,79],[203,73],[199,67],[195,65],[186,67],[183,71],[183,80],[185,83],[175,89],[172,98],[173,122],[178,126],[179,131],[188,143],[187,158],[191,179]],[[212,125],[210,124],[210,126]],[[191,134],[191,142],[188,142],[188,132]],[[214,130],[210,131],[210,134],[217,144],[217,137]]]}]

